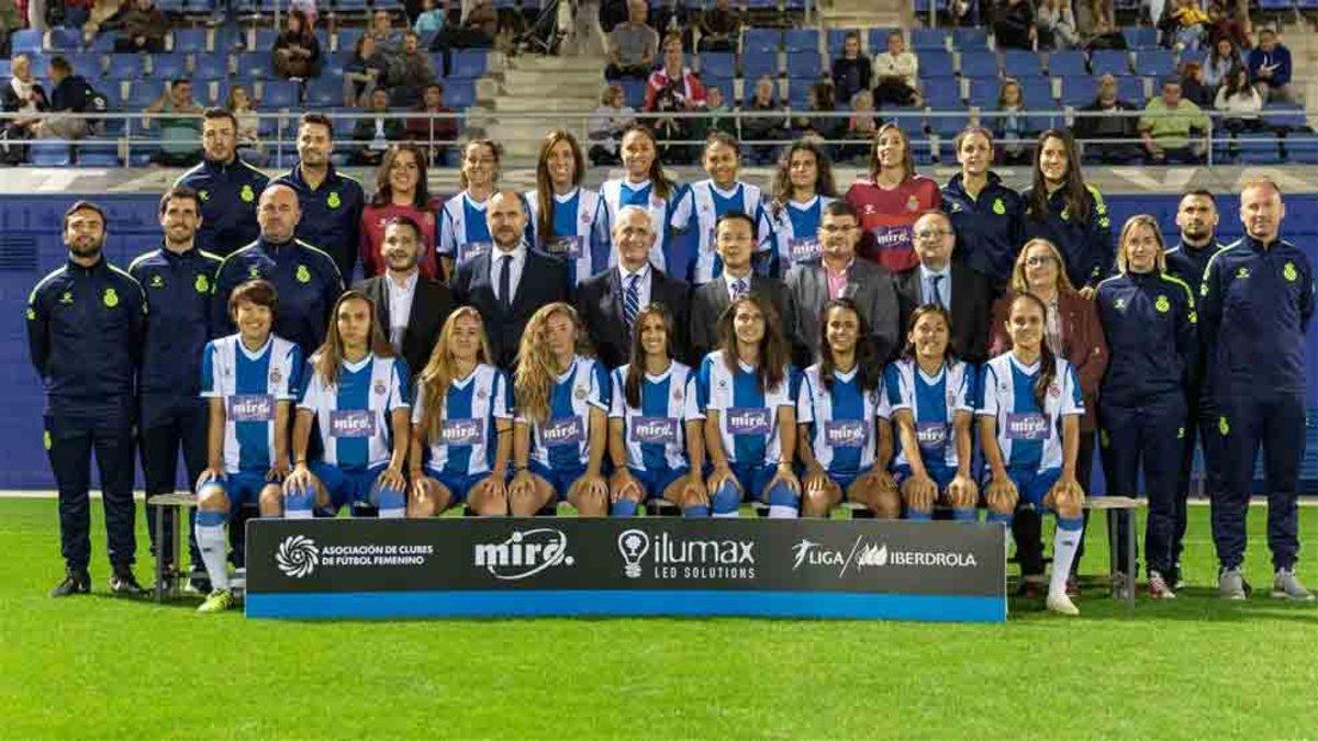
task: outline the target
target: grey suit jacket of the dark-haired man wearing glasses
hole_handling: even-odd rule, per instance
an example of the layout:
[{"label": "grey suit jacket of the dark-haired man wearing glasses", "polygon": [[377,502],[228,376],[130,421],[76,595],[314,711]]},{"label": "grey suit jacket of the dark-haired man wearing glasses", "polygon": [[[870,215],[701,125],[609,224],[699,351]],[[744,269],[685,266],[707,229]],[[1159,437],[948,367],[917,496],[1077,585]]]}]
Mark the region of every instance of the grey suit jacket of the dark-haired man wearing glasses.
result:
[{"label": "grey suit jacket of the dark-haired man wearing glasses", "polygon": [[[787,287],[796,306],[796,336],[807,352],[805,365],[813,364],[820,349],[820,326],[824,305],[828,303],[828,272],[818,260],[797,262],[787,272]],[[846,274],[845,298],[853,299],[870,326],[870,338],[880,360],[892,357],[898,349],[898,294],[892,276],[886,268],[859,257]]]}]

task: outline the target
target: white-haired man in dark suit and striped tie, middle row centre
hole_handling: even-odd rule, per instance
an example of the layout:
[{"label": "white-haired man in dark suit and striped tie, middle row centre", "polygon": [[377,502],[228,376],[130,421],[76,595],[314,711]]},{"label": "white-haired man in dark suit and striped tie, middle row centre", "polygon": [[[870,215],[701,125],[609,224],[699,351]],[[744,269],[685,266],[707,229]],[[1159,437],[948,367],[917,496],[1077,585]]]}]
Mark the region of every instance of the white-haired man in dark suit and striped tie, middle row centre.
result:
[{"label": "white-haired man in dark suit and striped tie, middle row centre", "polygon": [[692,364],[687,343],[691,286],[650,265],[654,241],[650,212],[639,206],[622,207],[613,227],[618,264],[577,287],[577,312],[596,355],[609,368],[630,360],[633,324],[637,314],[651,303],[664,305],[672,315],[672,356]]}]

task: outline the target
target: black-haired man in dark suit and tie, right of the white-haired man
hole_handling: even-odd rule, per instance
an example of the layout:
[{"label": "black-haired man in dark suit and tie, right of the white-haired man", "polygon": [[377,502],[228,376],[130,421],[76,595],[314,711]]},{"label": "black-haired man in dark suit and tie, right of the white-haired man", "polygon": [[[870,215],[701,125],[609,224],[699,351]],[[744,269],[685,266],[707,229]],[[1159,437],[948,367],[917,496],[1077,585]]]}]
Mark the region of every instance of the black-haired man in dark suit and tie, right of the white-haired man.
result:
[{"label": "black-haired man in dark suit and tie, right of the white-haired man", "polygon": [[792,361],[800,363],[805,348],[796,336],[796,306],[787,286],[776,278],[751,270],[755,253],[755,223],[741,211],[729,211],[714,224],[714,248],[724,261],[717,278],[697,286],[691,297],[691,349],[697,363],[718,348],[718,318],[733,299],[754,294],[778,310],[783,339],[792,348]]}]

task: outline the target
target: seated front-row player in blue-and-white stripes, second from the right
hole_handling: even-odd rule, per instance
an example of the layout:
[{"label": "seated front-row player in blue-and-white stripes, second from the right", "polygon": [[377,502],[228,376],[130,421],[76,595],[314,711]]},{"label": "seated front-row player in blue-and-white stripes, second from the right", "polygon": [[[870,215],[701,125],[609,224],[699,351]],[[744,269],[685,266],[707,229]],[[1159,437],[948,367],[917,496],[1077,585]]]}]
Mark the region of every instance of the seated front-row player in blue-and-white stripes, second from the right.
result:
[{"label": "seated front-row player in blue-and-white stripes, second from the right", "polygon": [[952,355],[952,319],[937,305],[911,314],[905,356],[884,372],[896,423],[898,483],[907,519],[929,519],[934,504],[974,521],[979,488],[970,476],[974,369]]}]

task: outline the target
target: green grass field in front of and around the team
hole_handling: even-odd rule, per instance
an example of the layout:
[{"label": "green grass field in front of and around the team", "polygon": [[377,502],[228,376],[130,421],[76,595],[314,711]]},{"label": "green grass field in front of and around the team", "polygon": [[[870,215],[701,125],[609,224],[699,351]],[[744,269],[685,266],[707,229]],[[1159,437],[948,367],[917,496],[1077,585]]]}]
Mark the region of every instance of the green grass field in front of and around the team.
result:
[{"label": "green grass field in front of and around the team", "polygon": [[[99,502],[94,593],[51,600],[54,501],[0,500],[0,736],[1311,738],[1318,605],[1268,599],[1263,514],[1247,564],[1263,593],[1211,597],[1193,508],[1194,587],[1133,618],[1095,589],[1078,620],[1012,603],[996,626],[275,622],[109,597]],[[1318,545],[1318,509],[1301,526]],[[1106,567],[1104,541],[1086,572]],[[1301,578],[1318,585],[1313,560]]]}]

